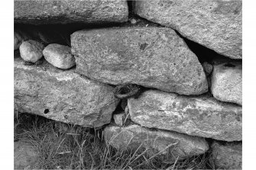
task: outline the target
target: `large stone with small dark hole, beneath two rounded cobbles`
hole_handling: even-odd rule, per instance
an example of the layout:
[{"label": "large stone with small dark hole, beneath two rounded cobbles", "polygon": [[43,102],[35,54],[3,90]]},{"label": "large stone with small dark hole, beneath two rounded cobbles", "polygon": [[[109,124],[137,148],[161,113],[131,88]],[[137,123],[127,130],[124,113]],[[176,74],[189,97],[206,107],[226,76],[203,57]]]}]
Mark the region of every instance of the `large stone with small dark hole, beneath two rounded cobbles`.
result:
[{"label": "large stone with small dark hole, beneath two rounded cobbles", "polygon": [[60,70],[44,61],[24,66],[15,58],[15,110],[64,123],[101,127],[118,104],[114,88],[86,79],[74,69]]}]

